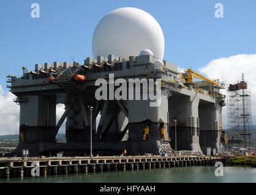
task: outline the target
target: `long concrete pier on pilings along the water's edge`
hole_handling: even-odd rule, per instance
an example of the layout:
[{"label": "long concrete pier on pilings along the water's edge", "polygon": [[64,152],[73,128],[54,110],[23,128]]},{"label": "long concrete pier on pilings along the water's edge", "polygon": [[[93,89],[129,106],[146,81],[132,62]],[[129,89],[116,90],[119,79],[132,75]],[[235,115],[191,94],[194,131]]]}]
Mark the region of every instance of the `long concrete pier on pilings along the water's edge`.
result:
[{"label": "long concrete pier on pilings along the water's edge", "polygon": [[29,177],[33,162],[39,165],[40,176],[78,174],[102,171],[126,171],[127,169],[171,168],[175,166],[214,165],[224,157],[28,157],[0,158],[0,177]]}]

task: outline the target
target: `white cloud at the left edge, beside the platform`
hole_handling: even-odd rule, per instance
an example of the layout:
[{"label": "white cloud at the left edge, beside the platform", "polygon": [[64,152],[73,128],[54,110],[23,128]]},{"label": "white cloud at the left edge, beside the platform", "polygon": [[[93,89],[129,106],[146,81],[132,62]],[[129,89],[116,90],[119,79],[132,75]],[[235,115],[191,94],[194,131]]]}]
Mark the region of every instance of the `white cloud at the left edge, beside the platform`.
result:
[{"label": "white cloud at the left edge, beside the platform", "polygon": [[15,98],[0,85],[0,135],[19,133],[20,107],[13,102]]}]

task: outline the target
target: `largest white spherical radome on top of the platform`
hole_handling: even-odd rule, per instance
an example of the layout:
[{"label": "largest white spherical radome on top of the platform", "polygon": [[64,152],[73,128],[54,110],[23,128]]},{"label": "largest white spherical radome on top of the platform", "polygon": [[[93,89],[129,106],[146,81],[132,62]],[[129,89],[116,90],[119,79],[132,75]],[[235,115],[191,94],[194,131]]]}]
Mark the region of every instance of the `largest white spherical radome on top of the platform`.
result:
[{"label": "largest white spherical radome on top of the platform", "polygon": [[156,19],[134,7],[122,7],[105,15],[92,36],[94,59],[108,54],[129,59],[145,48],[157,59],[163,59],[164,45],[164,34]]}]

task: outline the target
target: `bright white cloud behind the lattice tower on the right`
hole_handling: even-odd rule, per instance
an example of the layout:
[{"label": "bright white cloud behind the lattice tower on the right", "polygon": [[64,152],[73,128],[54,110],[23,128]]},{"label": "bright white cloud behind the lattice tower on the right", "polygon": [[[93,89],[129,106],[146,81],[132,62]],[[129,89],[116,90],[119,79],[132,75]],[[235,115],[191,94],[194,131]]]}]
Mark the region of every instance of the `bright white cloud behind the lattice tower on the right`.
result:
[{"label": "bright white cloud behind the lattice tower on the right", "polygon": [[[256,122],[256,54],[239,54],[221,59],[212,60],[203,68],[200,68],[200,73],[211,79],[220,79],[225,83],[237,83],[241,80],[242,73],[244,73],[244,79],[248,83],[248,88],[251,95],[251,112],[252,122]],[[227,94],[224,90],[223,93]],[[222,126],[227,128],[227,106],[224,107],[222,112]]]}]

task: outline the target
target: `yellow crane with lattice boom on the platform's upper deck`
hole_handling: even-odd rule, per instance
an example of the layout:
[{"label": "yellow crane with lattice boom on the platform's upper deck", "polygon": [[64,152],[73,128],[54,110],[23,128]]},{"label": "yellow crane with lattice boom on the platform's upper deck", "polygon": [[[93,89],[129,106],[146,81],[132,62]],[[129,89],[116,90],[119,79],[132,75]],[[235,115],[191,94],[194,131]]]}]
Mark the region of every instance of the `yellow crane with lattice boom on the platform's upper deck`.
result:
[{"label": "yellow crane with lattice boom on the platform's upper deck", "polygon": [[215,80],[208,79],[207,77],[197,73],[196,71],[192,70],[191,68],[187,69],[185,71],[185,73],[181,73],[181,78],[185,79],[187,83],[192,83],[192,80],[194,78],[197,78],[197,79],[201,79],[201,80],[206,80],[209,83],[211,83],[212,85],[221,87],[221,85],[219,83],[217,83]]}]

